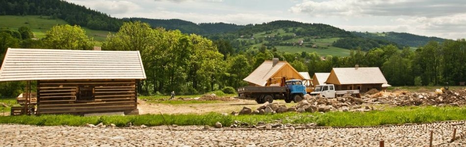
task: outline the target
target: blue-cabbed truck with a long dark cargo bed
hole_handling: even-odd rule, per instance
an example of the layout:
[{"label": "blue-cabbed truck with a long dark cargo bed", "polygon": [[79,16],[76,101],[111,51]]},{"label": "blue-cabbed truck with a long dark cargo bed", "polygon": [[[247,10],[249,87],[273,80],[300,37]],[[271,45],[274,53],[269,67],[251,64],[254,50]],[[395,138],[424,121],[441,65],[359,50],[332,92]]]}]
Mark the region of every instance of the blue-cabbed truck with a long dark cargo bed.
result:
[{"label": "blue-cabbed truck with a long dark cargo bed", "polygon": [[284,99],[286,103],[298,103],[306,94],[306,86],[302,80],[287,80],[279,86],[244,86],[237,89],[239,97],[254,98],[258,104],[272,103],[273,100]]}]

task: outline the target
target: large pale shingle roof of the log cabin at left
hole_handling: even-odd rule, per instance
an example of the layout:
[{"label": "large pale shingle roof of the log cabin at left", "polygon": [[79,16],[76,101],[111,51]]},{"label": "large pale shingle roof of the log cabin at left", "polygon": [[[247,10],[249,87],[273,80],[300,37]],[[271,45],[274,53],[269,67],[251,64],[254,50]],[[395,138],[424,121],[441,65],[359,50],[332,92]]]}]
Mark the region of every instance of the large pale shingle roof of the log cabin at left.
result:
[{"label": "large pale shingle roof of the log cabin at left", "polygon": [[8,48],[0,81],[146,79],[139,51]]}]

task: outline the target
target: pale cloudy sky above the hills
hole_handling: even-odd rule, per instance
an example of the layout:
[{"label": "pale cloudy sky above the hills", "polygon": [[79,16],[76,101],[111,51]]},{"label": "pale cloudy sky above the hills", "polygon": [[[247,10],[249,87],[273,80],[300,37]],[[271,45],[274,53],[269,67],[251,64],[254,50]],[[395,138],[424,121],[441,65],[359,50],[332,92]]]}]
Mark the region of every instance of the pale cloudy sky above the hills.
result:
[{"label": "pale cloudy sky above the hills", "polygon": [[290,20],[346,31],[466,38],[466,0],[66,0],[116,18],[258,24]]}]

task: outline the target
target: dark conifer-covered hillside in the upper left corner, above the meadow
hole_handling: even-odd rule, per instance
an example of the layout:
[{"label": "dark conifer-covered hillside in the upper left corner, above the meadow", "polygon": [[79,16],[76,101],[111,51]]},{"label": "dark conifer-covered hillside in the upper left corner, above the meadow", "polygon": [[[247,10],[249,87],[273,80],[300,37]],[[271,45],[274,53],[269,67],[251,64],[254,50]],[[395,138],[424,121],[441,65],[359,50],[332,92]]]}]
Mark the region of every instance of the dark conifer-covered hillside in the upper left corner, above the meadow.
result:
[{"label": "dark conifer-covered hillside in the upper left corner, above the meadow", "polygon": [[42,15],[94,30],[118,31],[123,20],[63,0],[0,0],[0,15]]}]

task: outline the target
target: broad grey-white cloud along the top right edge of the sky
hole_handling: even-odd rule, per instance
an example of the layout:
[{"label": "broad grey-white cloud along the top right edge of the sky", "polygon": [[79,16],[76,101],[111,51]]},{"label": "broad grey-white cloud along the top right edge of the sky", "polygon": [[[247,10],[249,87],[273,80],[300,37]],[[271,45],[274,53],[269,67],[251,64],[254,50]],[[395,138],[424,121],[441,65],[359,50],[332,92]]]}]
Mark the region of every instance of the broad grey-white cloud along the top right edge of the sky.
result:
[{"label": "broad grey-white cloud along the top right edge of the sky", "polygon": [[289,11],[311,16],[438,17],[466,13],[465,7],[464,0],[305,0]]}]

